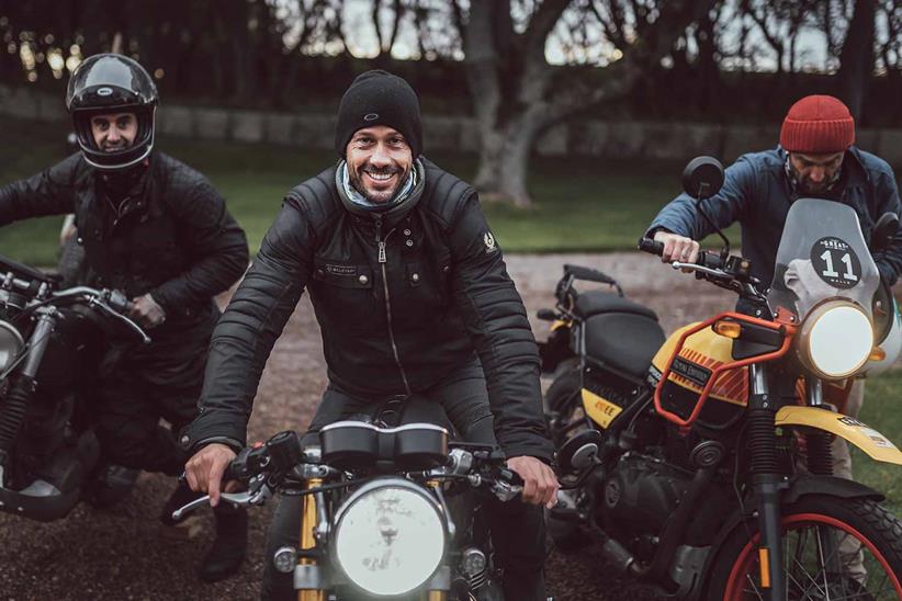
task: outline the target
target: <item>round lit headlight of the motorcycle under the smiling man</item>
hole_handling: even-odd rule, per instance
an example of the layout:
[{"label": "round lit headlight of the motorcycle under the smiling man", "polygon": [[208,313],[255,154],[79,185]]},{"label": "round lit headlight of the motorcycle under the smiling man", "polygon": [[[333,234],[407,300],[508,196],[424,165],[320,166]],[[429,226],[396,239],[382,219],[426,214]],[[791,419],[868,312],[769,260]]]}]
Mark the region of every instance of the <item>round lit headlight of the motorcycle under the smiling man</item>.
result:
[{"label": "round lit headlight of the motorcycle under the smiling man", "polygon": [[336,563],[352,583],[370,594],[404,594],[439,567],[444,520],[415,485],[376,480],[338,510],[332,543]]}]

